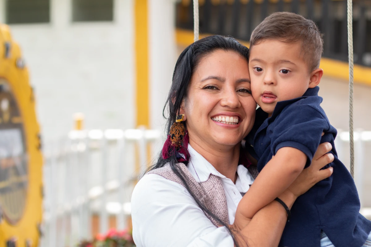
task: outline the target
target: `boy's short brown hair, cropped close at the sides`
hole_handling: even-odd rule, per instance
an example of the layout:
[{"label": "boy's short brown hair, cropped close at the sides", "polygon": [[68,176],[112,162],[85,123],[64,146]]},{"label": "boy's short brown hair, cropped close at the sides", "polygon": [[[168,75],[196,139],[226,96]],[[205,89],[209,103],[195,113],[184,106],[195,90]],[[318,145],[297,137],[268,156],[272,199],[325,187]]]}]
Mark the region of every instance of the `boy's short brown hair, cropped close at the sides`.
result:
[{"label": "boy's short brown hair, cropped close at the sides", "polygon": [[310,71],[318,69],[323,51],[322,34],[312,20],[290,12],[276,12],[266,17],[253,31],[250,49],[263,40],[302,43],[302,56]]}]

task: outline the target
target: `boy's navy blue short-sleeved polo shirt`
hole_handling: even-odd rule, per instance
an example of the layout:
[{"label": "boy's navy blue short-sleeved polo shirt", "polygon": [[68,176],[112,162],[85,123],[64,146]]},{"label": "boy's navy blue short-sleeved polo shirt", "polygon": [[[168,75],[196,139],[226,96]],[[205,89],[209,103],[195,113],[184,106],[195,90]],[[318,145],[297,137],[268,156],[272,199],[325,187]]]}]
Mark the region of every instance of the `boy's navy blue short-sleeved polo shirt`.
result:
[{"label": "boy's navy blue short-sleeved polo shirt", "polygon": [[[337,157],[334,145],[337,131],[320,106],[322,98],[318,91],[319,87],[315,87],[302,97],[278,102],[269,118],[262,109],[257,109],[255,126],[247,137],[255,153],[252,148],[249,151],[256,156],[259,171],[282,147],[305,153],[308,167],[318,145],[331,143],[330,153],[335,159],[326,168],[334,167],[333,174],[295,201],[279,246],[318,247],[323,230],[336,247],[361,247],[371,231],[371,221],[359,214],[357,189]],[[325,135],[321,137],[322,132]]]}]

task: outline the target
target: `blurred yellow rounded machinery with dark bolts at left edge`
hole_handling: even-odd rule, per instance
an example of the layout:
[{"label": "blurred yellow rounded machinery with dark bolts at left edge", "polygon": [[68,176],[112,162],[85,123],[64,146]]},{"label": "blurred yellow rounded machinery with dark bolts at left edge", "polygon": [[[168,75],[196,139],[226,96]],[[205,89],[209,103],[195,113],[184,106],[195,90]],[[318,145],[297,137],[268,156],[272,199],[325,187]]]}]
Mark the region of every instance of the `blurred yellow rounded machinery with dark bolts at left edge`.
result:
[{"label": "blurred yellow rounded machinery with dark bolts at left edge", "polygon": [[35,98],[9,27],[0,24],[0,247],[36,247],[42,154]]}]

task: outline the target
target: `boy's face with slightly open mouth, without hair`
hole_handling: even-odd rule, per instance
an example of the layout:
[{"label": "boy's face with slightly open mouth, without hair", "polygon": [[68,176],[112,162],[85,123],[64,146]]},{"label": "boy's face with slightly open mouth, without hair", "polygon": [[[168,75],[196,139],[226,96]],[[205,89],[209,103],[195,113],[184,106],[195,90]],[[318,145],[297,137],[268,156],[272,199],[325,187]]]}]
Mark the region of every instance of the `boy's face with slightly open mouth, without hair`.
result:
[{"label": "boy's face with slightly open mouth, without hair", "polygon": [[250,50],[249,72],[253,98],[269,116],[278,101],[303,96],[311,78],[300,42],[263,40]]}]

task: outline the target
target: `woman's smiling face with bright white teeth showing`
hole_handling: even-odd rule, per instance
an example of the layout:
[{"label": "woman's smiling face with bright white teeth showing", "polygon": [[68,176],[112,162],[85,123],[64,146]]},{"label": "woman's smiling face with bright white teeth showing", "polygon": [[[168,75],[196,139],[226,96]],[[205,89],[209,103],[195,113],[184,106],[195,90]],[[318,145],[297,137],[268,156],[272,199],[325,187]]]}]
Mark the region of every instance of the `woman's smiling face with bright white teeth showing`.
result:
[{"label": "woman's smiling face with bright white teeth showing", "polygon": [[217,50],[201,59],[181,107],[191,144],[222,148],[240,143],[255,120],[256,102],[250,89],[244,57]]}]

